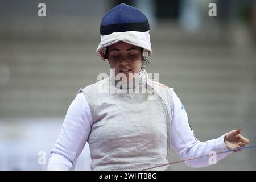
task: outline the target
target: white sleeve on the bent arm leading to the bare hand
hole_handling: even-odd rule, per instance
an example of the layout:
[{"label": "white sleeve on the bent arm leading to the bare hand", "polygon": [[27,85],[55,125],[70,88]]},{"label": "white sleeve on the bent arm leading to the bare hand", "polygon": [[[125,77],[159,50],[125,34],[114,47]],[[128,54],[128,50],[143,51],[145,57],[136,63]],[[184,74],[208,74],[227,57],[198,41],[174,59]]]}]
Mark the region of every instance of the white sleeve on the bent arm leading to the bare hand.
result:
[{"label": "white sleeve on the bent arm leading to the bare hand", "polygon": [[[196,158],[199,156],[212,155],[228,150],[225,145],[225,135],[217,139],[200,142],[191,129],[187,112],[184,109],[179,97],[173,92],[173,112],[171,117],[171,145],[181,160]],[[216,152],[216,153],[214,153]],[[218,154],[216,162],[223,159],[227,153]],[[185,162],[190,167],[207,167],[212,164],[209,157],[188,160]]]}]

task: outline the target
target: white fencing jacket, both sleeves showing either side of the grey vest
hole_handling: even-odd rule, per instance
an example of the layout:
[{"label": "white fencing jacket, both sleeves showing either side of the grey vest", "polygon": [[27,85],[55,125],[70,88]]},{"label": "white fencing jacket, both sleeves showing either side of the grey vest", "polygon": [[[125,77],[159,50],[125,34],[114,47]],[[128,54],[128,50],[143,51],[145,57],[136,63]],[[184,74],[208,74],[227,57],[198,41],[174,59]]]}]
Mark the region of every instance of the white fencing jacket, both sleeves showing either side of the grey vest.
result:
[{"label": "white fencing jacket, both sleeves showing either side of the grey vest", "polygon": [[[217,139],[200,142],[196,139],[188,123],[188,116],[179,97],[173,92],[173,112],[171,115],[171,146],[182,159],[209,155],[211,151],[228,150],[225,146],[225,135]],[[84,93],[78,93],[69,106],[63,127],[55,147],[51,151],[48,170],[73,170],[92,128],[92,115]],[[229,153],[217,155],[217,162]],[[185,162],[191,167],[209,166],[209,157]]]}]

